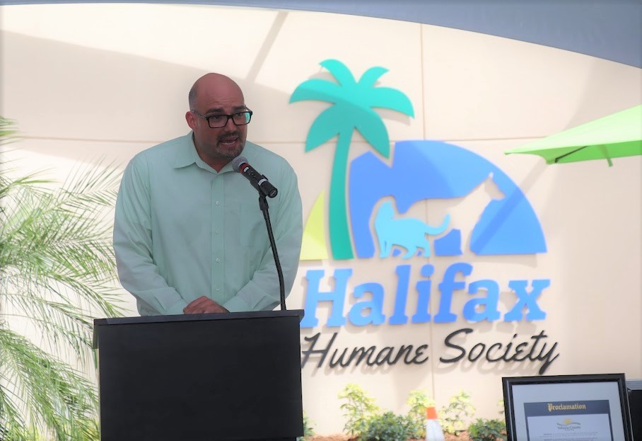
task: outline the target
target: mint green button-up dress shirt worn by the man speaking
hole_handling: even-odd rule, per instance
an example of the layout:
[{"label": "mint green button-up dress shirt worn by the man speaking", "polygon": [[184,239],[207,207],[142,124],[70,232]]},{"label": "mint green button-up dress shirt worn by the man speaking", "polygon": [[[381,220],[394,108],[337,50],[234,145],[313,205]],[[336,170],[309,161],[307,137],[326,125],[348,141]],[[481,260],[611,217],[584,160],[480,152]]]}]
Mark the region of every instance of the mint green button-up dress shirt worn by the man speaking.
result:
[{"label": "mint green button-up dress shirt worn by the man speaking", "polygon": [[[303,215],[293,168],[251,142],[243,156],[279,190],[268,199],[285,290],[294,283]],[[203,295],[229,311],[279,304],[259,193],[227,164],[200,159],[191,132],[134,156],[116,202],[114,250],[122,286],[141,315],[183,314]]]}]

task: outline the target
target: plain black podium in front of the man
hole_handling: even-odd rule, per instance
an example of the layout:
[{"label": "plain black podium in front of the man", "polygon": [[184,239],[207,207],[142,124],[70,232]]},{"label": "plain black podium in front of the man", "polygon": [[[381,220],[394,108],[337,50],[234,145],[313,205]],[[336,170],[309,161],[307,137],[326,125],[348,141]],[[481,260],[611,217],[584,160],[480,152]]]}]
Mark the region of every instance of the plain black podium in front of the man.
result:
[{"label": "plain black podium in front of the man", "polygon": [[303,436],[302,310],[94,321],[102,441]]}]

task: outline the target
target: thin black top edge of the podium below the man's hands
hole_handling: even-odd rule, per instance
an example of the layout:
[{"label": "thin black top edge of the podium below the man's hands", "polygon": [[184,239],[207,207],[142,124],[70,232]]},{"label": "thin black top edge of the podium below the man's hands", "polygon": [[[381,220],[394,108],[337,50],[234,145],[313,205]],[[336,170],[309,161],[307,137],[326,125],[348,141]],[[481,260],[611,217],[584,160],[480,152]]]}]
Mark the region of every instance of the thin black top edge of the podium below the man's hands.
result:
[{"label": "thin black top edge of the podium below the man's hands", "polygon": [[243,311],[219,314],[178,314],[172,316],[138,316],[115,317],[110,319],[94,319],[94,326],[132,325],[139,323],[170,323],[173,321],[204,321],[204,320],[238,320],[238,319],[269,319],[275,317],[298,317],[303,319],[303,309],[287,311]]}]

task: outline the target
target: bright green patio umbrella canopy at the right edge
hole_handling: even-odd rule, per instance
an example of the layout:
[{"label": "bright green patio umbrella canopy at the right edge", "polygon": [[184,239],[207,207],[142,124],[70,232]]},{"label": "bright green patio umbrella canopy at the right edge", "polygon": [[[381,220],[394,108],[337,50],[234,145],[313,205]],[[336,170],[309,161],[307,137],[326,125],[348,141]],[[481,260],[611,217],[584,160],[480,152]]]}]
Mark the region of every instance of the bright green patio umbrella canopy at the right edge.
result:
[{"label": "bright green patio umbrella canopy at the right edge", "polygon": [[504,152],[537,154],[547,164],[642,155],[642,105]]}]

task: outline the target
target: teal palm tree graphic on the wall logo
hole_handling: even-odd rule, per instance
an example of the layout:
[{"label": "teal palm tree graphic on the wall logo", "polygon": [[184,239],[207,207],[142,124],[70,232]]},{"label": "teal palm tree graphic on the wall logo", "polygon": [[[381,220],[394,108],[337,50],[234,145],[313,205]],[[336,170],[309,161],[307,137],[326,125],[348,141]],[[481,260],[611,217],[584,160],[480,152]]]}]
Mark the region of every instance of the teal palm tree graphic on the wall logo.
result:
[{"label": "teal palm tree graphic on the wall logo", "polygon": [[410,99],[401,91],[375,85],[387,72],[383,67],[371,67],[356,81],[350,69],[337,59],[327,59],[320,64],[336,82],[325,79],[303,81],[292,93],[290,102],[312,100],[332,103],[310,126],[305,151],[338,136],[330,180],[328,223],[332,257],[345,260],[354,258],[346,207],[348,156],[354,130],[358,130],[375,151],[388,158],[390,137],[383,119],[373,109],[395,110],[410,117],[414,117],[414,110]]}]

